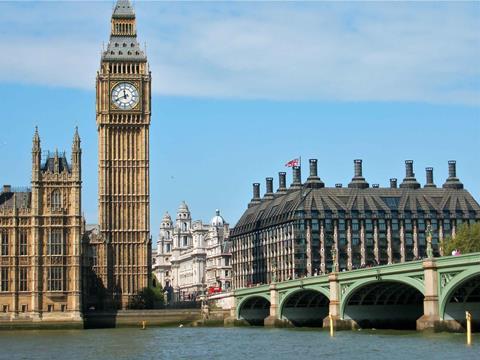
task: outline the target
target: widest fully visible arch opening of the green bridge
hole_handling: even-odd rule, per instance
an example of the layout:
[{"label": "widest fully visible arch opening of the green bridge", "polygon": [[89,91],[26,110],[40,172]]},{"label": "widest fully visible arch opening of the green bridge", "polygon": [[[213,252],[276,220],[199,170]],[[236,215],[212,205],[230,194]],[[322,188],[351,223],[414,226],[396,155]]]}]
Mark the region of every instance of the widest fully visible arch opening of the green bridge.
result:
[{"label": "widest fully visible arch opening of the green bridge", "polygon": [[345,291],[340,316],[364,328],[415,329],[423,299],[424,288],[414,279],[366,279]]}]

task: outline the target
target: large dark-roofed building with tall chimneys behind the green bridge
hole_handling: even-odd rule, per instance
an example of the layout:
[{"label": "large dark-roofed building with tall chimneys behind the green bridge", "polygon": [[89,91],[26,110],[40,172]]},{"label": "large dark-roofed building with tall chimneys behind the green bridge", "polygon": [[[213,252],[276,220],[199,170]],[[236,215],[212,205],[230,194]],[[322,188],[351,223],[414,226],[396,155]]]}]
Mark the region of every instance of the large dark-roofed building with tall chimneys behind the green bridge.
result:
[{"label": "large dark-roofed building with tall chimneys behind the green bridge", "polygon": [[441,188],[433,182],[432,168],[421,187],[411,160],[400,186],[391,179],[389,188],[370,187],[362,161],[354,164],[348,188],[325,187],[315,159],[306,183],[294,167],[290,188],[284,172],[277,192],[267,178],[263,198],[260,184],[253,185],[253,199],[231,231],[234,287],[330,272],[333,261],[343,270],[422,258],[428,226],[437,256],[459,224],[480,220],[480,206],[456,177],[455,161],[449,162]]}]

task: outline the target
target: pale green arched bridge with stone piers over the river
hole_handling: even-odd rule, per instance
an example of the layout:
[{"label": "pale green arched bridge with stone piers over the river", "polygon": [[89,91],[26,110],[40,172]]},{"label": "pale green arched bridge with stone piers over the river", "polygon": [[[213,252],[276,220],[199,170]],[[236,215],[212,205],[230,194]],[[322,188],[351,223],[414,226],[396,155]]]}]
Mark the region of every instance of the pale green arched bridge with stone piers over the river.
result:
[{"label": "pale green arched bridge with stone piers over the river", "polygon": [[480,253],[236,289],[226,324],[462,331],[480,318]]}]

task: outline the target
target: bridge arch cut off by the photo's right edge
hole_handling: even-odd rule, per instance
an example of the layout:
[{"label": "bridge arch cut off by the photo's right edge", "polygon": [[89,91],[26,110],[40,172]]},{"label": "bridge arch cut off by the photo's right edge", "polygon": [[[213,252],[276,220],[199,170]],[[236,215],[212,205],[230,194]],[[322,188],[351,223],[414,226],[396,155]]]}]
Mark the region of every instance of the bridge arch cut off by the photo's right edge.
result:
[{"label": "bridge arch cut off by the photo's right edge", "polygon": [[470,268],[457,274],[443,289],[439,304],[440,319],[465,322],[465,311],[470,311],[474,330],[480,322],[480,269]]}]

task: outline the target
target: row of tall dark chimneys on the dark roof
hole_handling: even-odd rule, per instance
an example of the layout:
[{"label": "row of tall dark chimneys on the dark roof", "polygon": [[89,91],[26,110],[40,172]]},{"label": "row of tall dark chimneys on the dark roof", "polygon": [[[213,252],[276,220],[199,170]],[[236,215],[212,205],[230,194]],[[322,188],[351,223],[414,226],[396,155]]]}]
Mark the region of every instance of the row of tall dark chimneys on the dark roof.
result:
[{"label": "row of tall dark chimneys on the dark roof", "polygon": [[[323,188],[325,187],[325,183],[320,179],[318,176],[318,168],[317,168],[317,159],[310,159],[310,176],[307,179],[305,184],[302,184],[302,176],[301,176],[301,167],[294,166],[293,167],[293,181],[290,185],[290,189],[298,189],[301,187],[307,188]],[[354,164],[354,176],[352,181],[348,184],[349,188],[356,188],[356,189],[366,189],[370,185],[368,182],[365,181],[365,178],[362,175],[362,160],[356,159],[353,161]],[[425,168],[426,171],[426,184],[425,188],[436,188],[437,186],[433,182],[433,168],[427,167]],[[278,190],[277,193],[282,193],[287,191],[287,173],[286,172],[279,172],[278,173]],[[341,188],[342,184],[335,184],[336,188]],[[373,188],[379,188],[379,184],[373,184]],[[421,187],[420,183],[415,178],[415,173],[413,172],[413,160],[406,160],[405,161],[405,178],[403,182],[398,186],[397,179],[391,178],[390,179],[390,188],[405,188],[405,189],[419,189]],[[463,189],[463,184],[457,178],[457,170],[456,170],[456,161],[450,160],[448,162],[448,178],[443,184],[443,188],[446,189]],[[273,178],[268,177],[266,178],[266,192],[265,198],[271,199],[275,196],[273,192]],[[254,183],[253,184],[253,198],[252,204],[258,203],[260,201],[260,184]]]}]

